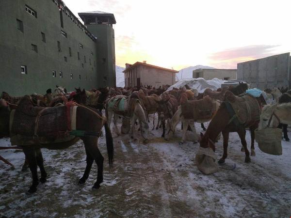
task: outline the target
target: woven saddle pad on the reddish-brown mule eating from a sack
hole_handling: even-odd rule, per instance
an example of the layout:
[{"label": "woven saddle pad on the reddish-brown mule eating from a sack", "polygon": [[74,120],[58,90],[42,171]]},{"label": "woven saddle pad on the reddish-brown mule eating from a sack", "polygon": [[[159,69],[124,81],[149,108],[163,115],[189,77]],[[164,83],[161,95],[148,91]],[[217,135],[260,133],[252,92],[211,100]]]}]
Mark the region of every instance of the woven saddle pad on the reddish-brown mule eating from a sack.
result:
[{"label": "woven saddle pad on the reddish-brown mule eating from a sack", "polygon": [[239,96],[226,98],[230,103],[240,124],[245,127],[259,120],[260,107],[258,100],[252,95],[243,93]]}]

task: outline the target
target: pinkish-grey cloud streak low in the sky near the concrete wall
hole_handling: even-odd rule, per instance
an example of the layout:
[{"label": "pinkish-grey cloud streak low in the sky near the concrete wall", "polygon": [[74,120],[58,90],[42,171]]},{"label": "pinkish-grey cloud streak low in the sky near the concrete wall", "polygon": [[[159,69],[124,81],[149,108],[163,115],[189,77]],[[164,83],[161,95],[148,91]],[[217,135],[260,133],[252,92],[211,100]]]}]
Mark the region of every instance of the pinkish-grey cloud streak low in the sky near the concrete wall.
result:
[{"label": "pinkish-grey cloud streak low in the sky near the concrete wall", "polygon": [[237,63],[264,58],[275,54],[277,45],[254,45],[230,48],[212,53],[210,64],[217,68],[237,68]]}]

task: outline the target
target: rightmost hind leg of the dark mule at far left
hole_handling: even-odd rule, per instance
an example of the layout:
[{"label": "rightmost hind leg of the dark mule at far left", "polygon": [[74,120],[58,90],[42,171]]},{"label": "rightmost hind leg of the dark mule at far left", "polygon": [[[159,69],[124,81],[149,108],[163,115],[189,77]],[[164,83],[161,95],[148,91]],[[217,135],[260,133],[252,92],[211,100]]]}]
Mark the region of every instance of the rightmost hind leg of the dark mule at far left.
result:
[{"label": "rightmost hind leg of the dark mule at far left", "polygon": [[[94,186],[92,187],[93,189],[98,189],[100,187],[100,183],[103,182],[103,161],[104,161],[104,157],[101,155],[98,147],[97,147],[97,143],[98,140],[95,138],[85,138],[83,139],[84,141],[84,145],[85,145],[85,149],[87,150],[87,152],[94,158],[96,164],[97,164],[97,181],[95,182]],[[87,168],[86,168],[87,170]],[[86,171],[85,171],[86,172]],[[85,173],[84,173],[85,174]],[[88,172],[88,176],[89,176],[89,172]]]}]

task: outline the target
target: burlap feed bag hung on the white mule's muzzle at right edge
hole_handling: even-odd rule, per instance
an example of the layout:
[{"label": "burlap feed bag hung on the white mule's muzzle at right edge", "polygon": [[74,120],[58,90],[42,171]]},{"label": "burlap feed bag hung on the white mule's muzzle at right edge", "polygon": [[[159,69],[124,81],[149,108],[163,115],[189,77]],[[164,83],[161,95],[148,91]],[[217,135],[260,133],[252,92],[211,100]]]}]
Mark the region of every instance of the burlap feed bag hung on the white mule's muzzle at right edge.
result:
[{"label": "burlap feed bag hung on the white mule's muzzle at right edge", "polygon": [[265,128],[255,130],[255,139],[259,149],[269,155],[282,155],[282,129]]}]

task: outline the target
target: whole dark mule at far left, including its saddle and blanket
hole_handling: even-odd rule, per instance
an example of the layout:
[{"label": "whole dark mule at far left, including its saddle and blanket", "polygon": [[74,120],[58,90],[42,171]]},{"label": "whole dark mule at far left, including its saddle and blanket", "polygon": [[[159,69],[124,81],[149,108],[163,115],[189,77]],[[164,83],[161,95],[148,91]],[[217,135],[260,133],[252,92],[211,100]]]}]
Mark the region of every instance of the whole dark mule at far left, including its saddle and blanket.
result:
[{"label": "whole dark mule at far left, including its saddle and blanket", "polygon": [[[64,124],[57,121],[60,118],[63,119]],[[19,128],[17,125],[20,124],[29,129]],[[98,150],[97,142],[103,125],[106,132],[108,160],[111,166],[113,164],[112,135],[106,118],[96,109],[80,105],[77,107],[75,104],[56,108],[33,107],[27,96],[20,100],[16,110],[11,111],[8,106],[0,105],[0,137],[11,136],[14,144],[21,144],[32,172],[30,193],[36,191],[38,181],[46,182],[47,173],[44,169],[40,148],[63,149],[75,144],[79,139],[83,140],[87,155],[87,166],[79,183],[85,183],[95,160],[98,171],[97,181],[93,188],[99,188],[100,183],[103,182],[104,158]],[[67,133],[73,136],[68,136]],[[38,180],[37,166],[41,171],[40,180]]]}]

